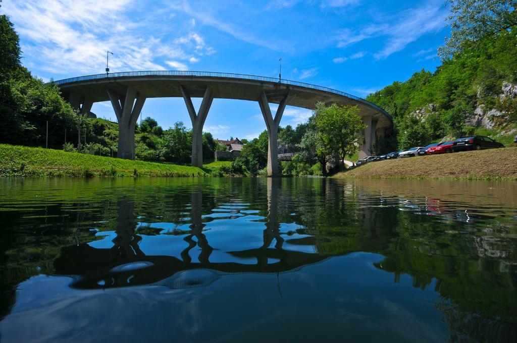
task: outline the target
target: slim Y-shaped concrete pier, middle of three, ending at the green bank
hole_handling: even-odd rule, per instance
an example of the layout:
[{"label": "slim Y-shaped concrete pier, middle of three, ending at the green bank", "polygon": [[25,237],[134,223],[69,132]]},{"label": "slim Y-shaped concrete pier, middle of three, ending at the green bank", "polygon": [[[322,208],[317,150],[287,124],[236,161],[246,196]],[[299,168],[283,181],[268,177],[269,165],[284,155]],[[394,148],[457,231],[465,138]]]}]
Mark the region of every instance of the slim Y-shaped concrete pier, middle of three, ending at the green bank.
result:
[{"label": "slim Y-shaped concrete pier, middle of three, ending at the green bank", "polygon": [[214,95],[212,95],[210,87],[206,87],[199,112],[196,114],[192,99],[188,95],[187,90],[181,85],[179,88],[192,122],[192,166],[201,168],[203,166],[203,126],[205,125],[212,101],[214,101]]}]

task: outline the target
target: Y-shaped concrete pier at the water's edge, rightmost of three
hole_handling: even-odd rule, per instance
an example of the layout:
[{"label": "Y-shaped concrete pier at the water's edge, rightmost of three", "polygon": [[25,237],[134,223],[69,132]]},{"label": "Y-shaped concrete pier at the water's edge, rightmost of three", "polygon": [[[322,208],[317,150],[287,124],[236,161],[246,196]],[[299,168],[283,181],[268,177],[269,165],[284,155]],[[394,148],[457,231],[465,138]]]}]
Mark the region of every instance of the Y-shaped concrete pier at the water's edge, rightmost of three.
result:
[{"label": "Y-shaped concrete pier at the water's edge, rightmost of three", "polygon": [[269,102],[267,101],[266,92],[264,90],[262,91],[261,97],[258,98],[258,105],[260,105],[262,116],[266,122],[269,138],[267,147],[267,176],[278,176],[278,127],[285,110],[288,96],[289,93],[280,101],[275,118],[273,118],[271,114],[271,108],[269,107]]}]

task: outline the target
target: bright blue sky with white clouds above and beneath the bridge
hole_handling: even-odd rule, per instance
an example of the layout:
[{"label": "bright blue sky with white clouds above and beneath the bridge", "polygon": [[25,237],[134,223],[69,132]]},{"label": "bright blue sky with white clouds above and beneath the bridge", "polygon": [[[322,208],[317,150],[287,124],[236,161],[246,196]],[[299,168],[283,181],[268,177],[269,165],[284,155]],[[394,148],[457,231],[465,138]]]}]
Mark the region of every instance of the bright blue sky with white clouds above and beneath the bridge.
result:
[{"label": "bright blue sky with white clouds above and beneath the bridge", "polygon": [[[359,97],[439,65],[448,34],[444,0],[4,0],[20,35],[22,64],[44,81],[111,72],[202,70],[278,77]],[[199,106],[200,99],[194,99]],[[275,106],[272,106],[274,109]],[[92,109],[115,120],[108,102]],[[180,98],[147,99],[143,116],[191,127]],[[287,107],[281,126],[310,111]],[[253,138],[258,103],[215,99],[205,131]]]}]

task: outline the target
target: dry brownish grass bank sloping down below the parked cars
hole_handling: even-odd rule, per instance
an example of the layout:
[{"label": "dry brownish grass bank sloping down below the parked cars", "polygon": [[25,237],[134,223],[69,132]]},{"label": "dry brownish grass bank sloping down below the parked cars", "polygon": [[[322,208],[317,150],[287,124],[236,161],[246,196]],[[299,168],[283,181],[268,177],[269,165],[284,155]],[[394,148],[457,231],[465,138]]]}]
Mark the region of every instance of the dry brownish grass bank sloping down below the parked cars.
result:
[{"label": "dry brownish grass bank sloping down below the parked cars", "polygon": [[342,171],[334,177],[517,180],[517,148],[464,151],[371,162]]}]

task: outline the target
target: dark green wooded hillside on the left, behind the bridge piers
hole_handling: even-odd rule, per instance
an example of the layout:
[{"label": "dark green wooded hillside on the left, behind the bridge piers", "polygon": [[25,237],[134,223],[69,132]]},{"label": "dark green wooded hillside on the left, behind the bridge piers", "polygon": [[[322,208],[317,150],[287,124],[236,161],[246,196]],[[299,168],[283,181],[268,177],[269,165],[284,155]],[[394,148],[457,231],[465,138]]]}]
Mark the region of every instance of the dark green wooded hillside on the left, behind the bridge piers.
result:
[{"label": "dark green wooded hillside on the left, behind the bridge piers", "polygon": [[[18,34],[5,14],[0,15],[0,46],[0,143],[116,156],[118,124],[81,115],[55,84],[23,67]],[[190,162],[192,133],[183,122],[163,130],[147,117],[136,124],[135,141],[138,160]],[[213,159],[216,148],[212,135],[203,133],[204,157]]]}]

